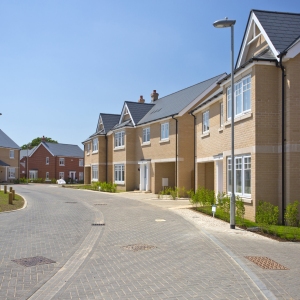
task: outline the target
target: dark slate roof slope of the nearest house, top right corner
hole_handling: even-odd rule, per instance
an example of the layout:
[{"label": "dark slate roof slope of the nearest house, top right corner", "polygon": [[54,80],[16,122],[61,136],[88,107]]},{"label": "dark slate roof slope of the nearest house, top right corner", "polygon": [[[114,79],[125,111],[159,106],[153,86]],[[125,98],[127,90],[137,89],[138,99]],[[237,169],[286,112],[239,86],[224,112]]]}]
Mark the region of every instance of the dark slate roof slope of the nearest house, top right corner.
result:
[{"label": "dark slate roof slope of the nearest house, top right corner", "polygon": [[284,52],[300,36],[300,14],[252,10],[276,50]]}]

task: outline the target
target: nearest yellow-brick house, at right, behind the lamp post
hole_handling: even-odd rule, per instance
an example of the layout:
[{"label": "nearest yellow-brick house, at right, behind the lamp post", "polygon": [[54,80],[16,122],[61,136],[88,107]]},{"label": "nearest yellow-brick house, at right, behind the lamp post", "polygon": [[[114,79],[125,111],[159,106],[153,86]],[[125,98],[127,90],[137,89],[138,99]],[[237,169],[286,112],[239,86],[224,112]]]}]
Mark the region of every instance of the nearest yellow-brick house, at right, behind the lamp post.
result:
[{"label": "nearest yellow-brick house, at right, behind the lamp post", "polygon": [[[255,218],[259,200],[280,208],[300,194],[300,14],[252,10],[234,72],[235,158],[231,161],[231,79],[192,110],[196,188],[236,195]],[[232,163],[235,182],[231,182]]]}]

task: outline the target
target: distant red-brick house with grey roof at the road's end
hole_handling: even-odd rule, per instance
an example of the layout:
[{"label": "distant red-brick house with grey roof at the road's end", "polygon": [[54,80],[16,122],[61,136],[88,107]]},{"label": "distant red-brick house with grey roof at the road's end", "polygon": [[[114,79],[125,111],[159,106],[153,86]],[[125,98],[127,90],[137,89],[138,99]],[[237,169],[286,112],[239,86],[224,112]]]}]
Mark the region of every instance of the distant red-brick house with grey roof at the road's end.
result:
[{"label": "distant red-brick house with grey roof at the road's end", "polygon": [[27,177],[28,170],[29,179],[42,178],[51,181],[62,178],[71,182],[84,179],[84,154],[77,145],[42,141],[28,152],[28,157],[27,150],[22,155],[25,155],[21,159],[23,177]]}]

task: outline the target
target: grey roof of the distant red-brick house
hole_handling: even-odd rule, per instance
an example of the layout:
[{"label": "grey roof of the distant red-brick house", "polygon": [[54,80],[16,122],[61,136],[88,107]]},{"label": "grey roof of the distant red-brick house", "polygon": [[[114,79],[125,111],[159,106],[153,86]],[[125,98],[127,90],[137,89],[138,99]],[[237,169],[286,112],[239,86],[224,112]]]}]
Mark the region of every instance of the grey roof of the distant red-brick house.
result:
[{"label": "grey roof of the distant red-brick house", "polygon": [[41,146],[44,146],[53,156],[65,156],[65,157],[82,157],[83,158],[83,150],[79,148],[77,145],[70,144],[59,144],[59,143],[49,143],[49,142],[41,142],[39,146],[30,154],[32,154]]}]

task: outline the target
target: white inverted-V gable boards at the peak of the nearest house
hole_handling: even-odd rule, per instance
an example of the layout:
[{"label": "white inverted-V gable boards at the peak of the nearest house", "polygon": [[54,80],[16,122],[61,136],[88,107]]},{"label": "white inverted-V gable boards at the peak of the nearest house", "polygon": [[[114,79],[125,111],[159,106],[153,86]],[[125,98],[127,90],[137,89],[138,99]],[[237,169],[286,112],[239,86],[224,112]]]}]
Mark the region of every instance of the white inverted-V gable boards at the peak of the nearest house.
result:
[{"label": "white inverted-V gable boards at the peak of the nearest house", "polygon": [[275,55],[275,57],[277,57],[277,55],[279,54],[279,52],[276,50],[273,43],[271,42],[270,38],[268,37],[267,33],[265,32],[263,26],[260,24],[259,20],[257,19],[255,13],[252,12],[251,16],[250,16],[250,19],[249,19],[249,22],[248,22],[248,27],[247,27],[247,30],[246,30],[246,34],[245,34],[245,37],[244,37],[244,40],[243,40],[243,43],[242,43],[242,50],[241,50],[240,55],[239,55],[238,60],[237,60],[236,68],[239,68],[242,64],[242,59],[244,57],[245,50],[246,50],[247,43],[248,43],[249,33],[250,33],[250,30],[252,30],[252,26],[255,25],[255,24],[253,24],[253,22],[257,25],[257,27],[260,30],[261,34],[264,36],[266,42],[268,43],[268,45],[269,45],[271,51],[273,52],[273,54]]}]

